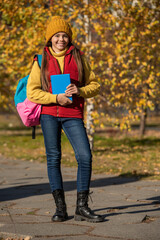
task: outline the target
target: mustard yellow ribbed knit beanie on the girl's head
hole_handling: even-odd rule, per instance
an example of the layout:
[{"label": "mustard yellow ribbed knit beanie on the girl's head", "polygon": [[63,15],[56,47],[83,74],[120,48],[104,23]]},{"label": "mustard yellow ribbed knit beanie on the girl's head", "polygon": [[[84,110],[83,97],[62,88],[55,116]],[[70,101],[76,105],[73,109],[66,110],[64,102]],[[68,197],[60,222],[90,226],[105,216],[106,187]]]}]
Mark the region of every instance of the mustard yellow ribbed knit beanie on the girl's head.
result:
[{"label": "mustard yellow ribbed knit beanie on the girl's head", "polygon": [[51,18],[51,21],[47,25],[47,31],[46,31],[46,43],[50,40],[50,38],[58,33],[58,32],[65,32],[70,38],[70,41],[72,41],[72,30],[67,23],[67,21],[60,16],[54,16]]}]

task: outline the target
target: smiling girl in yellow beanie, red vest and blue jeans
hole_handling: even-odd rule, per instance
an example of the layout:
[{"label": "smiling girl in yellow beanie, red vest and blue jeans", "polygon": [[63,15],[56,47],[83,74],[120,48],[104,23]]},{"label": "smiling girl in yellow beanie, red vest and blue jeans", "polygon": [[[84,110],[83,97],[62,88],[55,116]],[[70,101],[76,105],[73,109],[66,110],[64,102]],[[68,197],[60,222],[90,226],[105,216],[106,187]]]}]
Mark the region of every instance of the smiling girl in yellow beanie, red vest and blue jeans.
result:
[{"label": "smiling girl in yellow beanie, red vest and blue jeans", "polygon": [[[101,222],[88,207],[92,155],[83,123],[84,98],[98,94],[95,79],[83,53],[72,44],[70,25],[61,17],[52,17],[47,25],[46,44],[41,69],[35,58],[27,84],[27,98],[42,104],[41,127],[44,136],[47,169],[51,191],[56,204],[52,221],[68,218],[61,175],[61,130],[67,135],[78,163],[77,204],[75,220]],[[51,75],[70,74],[71,84],[65,93],[54,94]],[[72,101],[68,98],[72,96]]]}]

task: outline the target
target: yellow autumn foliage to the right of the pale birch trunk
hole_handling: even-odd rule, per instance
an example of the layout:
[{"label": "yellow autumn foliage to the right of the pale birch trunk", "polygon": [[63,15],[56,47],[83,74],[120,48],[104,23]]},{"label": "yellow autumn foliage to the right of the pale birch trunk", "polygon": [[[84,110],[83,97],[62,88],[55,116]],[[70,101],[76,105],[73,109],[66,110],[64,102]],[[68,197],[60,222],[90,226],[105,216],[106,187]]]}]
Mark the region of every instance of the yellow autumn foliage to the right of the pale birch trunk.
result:
[{"label": "yellow autumn foliage to the right of the pale birch trunk", "polygon": [[139,116],[145,120],[147,109],[154,110],[160,100],[158,2],[102,1],[96,9],[94,28],[100,44],[95,49],[101,60],[95,69],[102,81],[99,101],[103,112],[104,105],[112,106],[115,116],[121,109],[120,120],[114,116],[113,121],[122,129]]}]

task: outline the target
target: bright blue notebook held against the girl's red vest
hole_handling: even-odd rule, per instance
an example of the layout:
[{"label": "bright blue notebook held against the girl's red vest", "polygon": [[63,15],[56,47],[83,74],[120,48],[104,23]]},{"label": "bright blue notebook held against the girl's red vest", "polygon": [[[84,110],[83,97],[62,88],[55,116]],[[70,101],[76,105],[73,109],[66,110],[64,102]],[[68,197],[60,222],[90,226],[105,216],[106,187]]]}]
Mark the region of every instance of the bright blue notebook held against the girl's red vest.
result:
[{"label": "bright blue notebook held against the girl's red vest", "polygon": [[[51,86],[53,94],[65,93],[67,86],[71,83],[70,74],[51,75]],[[72,97],[69,97],[72,101]]]}]

